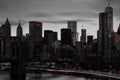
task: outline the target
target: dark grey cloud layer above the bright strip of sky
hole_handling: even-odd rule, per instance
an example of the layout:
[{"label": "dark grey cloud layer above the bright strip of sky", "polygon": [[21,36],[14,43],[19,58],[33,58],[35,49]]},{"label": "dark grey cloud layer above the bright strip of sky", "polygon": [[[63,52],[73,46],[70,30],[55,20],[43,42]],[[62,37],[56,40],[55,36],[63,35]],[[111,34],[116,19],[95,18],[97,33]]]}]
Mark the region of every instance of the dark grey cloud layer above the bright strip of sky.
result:
[{"label": "dark grey cloud layer above the bright strip of sky", "polygon": [[[120,0],[111,0],[117,20],[120,20],[119,4]],[[18,20],[26,20],[28,17],[47,18],[44,22],[51,23],[63,23],[65,21],[61,18],[72,17],[79,22],[88,22],[86,18],[98,18],[99,12],[104,11],[106,6],[107,0],[1,0],[0,16]],[[79,20],[81,17],[85,20]]]}]

